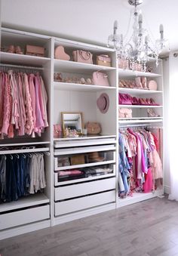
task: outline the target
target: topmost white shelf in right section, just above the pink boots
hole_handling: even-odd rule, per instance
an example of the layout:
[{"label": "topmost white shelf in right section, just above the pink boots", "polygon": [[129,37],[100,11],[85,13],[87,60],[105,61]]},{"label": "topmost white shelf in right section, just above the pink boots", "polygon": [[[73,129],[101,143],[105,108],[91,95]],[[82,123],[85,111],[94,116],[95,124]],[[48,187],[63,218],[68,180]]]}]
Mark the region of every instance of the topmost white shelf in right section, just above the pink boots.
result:
[{"label": "topmost white shelf in right section, just above the pink boots", "polygon": [[160,74],[155,74],[152,72],[141,72],[141,71],[133,71],[129,69],[118,69],[119,78],[123,77],[135,77],[135,76],[146,76],[146,77],[161,77]]}]

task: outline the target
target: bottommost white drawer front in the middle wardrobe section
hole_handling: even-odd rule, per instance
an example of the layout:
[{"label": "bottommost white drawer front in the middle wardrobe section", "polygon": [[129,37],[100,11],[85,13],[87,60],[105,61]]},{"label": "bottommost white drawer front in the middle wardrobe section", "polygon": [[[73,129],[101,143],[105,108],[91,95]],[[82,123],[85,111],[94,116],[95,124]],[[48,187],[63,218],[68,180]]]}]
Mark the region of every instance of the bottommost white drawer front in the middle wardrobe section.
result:
[{"label": "bottommost white drawer front in the middle wardrobe section", "polygon": [[115,202],[115,190],[55,203],[55,216]]}]

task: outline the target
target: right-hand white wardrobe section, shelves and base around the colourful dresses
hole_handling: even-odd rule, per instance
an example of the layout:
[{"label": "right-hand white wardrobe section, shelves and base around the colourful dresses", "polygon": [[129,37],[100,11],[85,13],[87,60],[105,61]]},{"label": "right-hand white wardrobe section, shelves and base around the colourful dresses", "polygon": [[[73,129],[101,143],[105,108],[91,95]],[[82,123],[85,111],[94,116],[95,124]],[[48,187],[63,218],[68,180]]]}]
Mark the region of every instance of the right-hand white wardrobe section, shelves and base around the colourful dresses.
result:
[{"label": "right-hand white wardrobe section, shelves and base around the colourful dresses", "polygon": [[[159,65],[156,67],[155,61],[151,60],[148,63],[149,66],[152,66],[155,72],[134,72],[132,70],[123,70],[118,69],[118,81],[120,79],[129,79],[134,80],[137,76],[146,77],[147,82],[149,80],[155,80],[158,84],[157,91],[151,91],[146,89],[138,89],[138,88],[118,88],[118,93],[120,94],[130,94],[131,97],[141,97],[141,98],[152,98],[155,100],[155,103],[159,105],[121,105],[118,104],[118,109],[120,108],[129,108],[132,109],[132,118],[118,118],[118,127],[121,128],[129,128],[129,127],[136,127],[147,125],[152,127],[163,127],[164,123],[164,115],[163,115],[163,81],[162,81],[162,62],[159,60]],[[158,114],[158,117],[148,117],[146,109],[154,109],[155,113]],[[161,141],[162,143],[162,141]],[[163,149],[164,151],[164,149]],[[164,163],[164,152],[161,153],[161,161]],[[163,164],[164,170],[164,164]],[[118,174],[116,170],[116,174]],[[125,205],[130,205],[135,202],[140,202],[146,199],[151,199],[155,196],[161,196],[163,194],[163,188],[160,190],[155,190],[153,193],[133,193],[132,196],[127,196],[124,199],[120,199],[117,196],[116,200],[116,207],[120,208]]]}]

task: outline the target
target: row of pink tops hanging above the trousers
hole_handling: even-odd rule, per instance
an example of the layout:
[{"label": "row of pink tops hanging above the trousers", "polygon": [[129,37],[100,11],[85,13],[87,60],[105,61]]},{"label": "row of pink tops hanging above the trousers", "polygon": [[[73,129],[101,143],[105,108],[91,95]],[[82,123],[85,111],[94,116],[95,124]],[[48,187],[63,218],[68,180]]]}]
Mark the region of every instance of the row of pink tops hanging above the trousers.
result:
[{"label": "row of pink tops hanging above the trousers", "polygon": [[0,134],[35,137],[48,127],[48,95],[42,77],[25,72],[0,72]]}]

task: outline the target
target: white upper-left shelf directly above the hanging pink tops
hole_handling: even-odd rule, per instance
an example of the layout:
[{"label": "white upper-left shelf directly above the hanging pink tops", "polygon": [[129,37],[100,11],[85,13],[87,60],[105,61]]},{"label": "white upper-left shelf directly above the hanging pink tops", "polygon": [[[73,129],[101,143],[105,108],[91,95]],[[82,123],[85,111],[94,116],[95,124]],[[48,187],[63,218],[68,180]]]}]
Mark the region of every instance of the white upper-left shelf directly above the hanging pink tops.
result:
[{"label": "white upper-left shelf directly above the hanging pink tops", "polygon": [[35,69],[35,67],[44,66],[51,60],[51,58],[30,56],[25,54],[11,54],[1,51],[0,60],[1,63],[34,66]]}]

